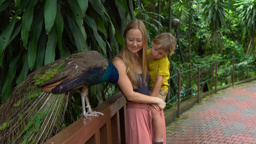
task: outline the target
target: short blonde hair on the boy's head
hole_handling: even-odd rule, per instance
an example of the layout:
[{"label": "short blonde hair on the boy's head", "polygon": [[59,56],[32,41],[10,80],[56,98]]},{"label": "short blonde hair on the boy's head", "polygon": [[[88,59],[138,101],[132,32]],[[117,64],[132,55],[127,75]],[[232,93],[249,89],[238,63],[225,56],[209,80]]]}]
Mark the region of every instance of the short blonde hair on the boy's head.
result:
[{"label": "short blonde hair on the boy's head", "polygon": [[167,52],[167,54],[174,54],[176,38],[169,32],[161,33],[155,37],[154,44],[160,45],[159,48]]}]

